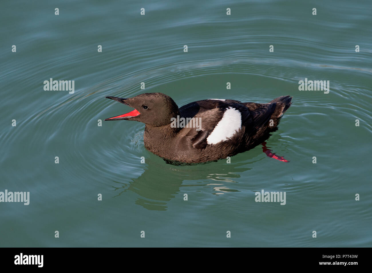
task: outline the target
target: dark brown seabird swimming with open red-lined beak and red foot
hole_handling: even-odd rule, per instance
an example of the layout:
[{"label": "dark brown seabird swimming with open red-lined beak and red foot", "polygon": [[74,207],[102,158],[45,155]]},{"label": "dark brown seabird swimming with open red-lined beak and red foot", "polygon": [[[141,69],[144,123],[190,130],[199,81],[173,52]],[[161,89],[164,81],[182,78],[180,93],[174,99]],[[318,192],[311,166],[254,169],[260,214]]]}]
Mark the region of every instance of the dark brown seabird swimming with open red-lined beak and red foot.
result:
[{"label": "dark brown seabird swimming with open red-lined beak and red foot", "polygon": [[[106,98],[134,110],[105,120],[144,123],[146,149],[176,165],[226,159],[256,147],[278,129],[280,118],[292,103],[289,95],[264,104],[208,99],[182,107],[163,93]],[[283,159],[265,149],[268,156]]]}]

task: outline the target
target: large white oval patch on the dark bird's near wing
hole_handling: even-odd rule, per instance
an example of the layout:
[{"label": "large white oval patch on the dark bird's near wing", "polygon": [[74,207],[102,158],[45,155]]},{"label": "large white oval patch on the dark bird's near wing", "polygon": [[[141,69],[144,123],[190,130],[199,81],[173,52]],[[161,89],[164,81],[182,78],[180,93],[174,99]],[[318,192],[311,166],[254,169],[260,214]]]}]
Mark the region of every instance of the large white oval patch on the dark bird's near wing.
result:
[{"label": "large white oval patch on the dark bird's near wing", "polygon": [[235,108],[226,108],[221,120],[214,127],[212,133],[207,137],[208,144],[216,144],[228,140],[241,129],[241,113]]}]

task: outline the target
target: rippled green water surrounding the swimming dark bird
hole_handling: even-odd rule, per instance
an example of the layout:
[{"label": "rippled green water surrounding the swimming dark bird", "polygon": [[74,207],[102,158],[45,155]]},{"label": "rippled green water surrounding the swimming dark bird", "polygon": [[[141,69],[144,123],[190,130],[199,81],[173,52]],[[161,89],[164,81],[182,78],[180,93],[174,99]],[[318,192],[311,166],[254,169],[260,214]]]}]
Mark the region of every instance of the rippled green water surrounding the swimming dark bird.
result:
[{"label": "rippled green water surrounding the swimming dark bird", "polygon": [[[0,202],[0,246],[370,247],[371,7],[1,1],[0,191],[30,199]],[[74,93],[45,91],[50,78],[74,80]],[[330,92],[299,91],[305,78]],[[172,166],[144,148],[144,124],[98,126],[132,110],[105,96],[143,92],[179,106],[292,95],[267,140],[290,162],[257,146],[231,163]],[[286,204],[255,202],[262,189],[286,192]]]}]

